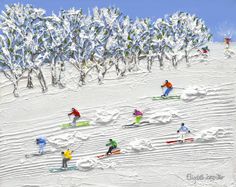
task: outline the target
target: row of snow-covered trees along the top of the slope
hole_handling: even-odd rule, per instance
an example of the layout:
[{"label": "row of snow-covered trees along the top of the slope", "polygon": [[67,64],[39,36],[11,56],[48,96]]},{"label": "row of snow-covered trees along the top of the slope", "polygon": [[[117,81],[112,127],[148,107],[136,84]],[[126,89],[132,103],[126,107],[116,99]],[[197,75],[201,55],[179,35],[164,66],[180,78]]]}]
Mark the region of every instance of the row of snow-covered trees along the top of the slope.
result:
[{"label": "row of snow-covered trees along the top of the slope", "polygon": [[14,95],[27,76],[33,88],[36,76],[43,92],[48,89],[42,70],[50,65],[51,83],[64,88],[67,63],[79,74],[78,85],[88,74],[102,83],[110,69],[117,76],[139,69],[151,71],[156,59],[160,67],[169,61],[189,63],[192,51],[211,38],[204,22],[189,13],[177,12],[152,22],[124,16],[117,8],[94,8],[91,13],[69,9],[58,15],[32,5],[7,5],[0,15],[0,71],[12,82]]}]

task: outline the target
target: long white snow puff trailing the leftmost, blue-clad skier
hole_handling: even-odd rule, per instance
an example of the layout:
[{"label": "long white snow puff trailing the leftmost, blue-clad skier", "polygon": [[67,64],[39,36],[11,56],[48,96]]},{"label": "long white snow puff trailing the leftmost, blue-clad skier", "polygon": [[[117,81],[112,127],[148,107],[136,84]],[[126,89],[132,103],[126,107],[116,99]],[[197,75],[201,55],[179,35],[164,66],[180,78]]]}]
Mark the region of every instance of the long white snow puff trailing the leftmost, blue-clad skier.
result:
[{"label": "long white snow puff trailing the leftmost, blue-clad skier", "polygon": [[56,145],[57,147],[68,147],[79,140],[87,140],[89,136],[82,134],[81,132],[73,132],[62,135],[57,135],[48,138],[48,142]]}]

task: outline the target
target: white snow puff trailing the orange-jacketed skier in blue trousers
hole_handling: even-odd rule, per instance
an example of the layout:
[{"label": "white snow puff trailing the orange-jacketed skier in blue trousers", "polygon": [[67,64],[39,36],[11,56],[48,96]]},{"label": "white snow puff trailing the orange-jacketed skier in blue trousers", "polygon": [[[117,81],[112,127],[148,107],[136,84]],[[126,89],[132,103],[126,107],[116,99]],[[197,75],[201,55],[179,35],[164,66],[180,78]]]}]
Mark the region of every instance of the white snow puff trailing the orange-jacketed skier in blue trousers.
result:
[{"label": "white snow puff trailing the orange-jacketed skier in blue trousers", "polygon": [[207,90],[200,86],[191,86],[185,89],[181,95],[181,99],[184,101],[192,101],[198,97],[202,98],[207,95]]}]

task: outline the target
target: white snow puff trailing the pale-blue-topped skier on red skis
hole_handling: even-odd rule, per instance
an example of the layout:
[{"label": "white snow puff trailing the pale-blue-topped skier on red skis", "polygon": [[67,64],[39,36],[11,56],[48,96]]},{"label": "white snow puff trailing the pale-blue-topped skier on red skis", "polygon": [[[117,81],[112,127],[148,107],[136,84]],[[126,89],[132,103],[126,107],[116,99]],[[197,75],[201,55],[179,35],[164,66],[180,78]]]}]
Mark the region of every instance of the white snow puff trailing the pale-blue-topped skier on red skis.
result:
[{"label": "white snow puff trailing the pale-blue-topped skier on red skis", "polygon": [[212,127],[210,129],[201,131],[195,136],[197,142],[214,142],[219,138],[223,138],[228,133],[224,128],[221,127]]}]

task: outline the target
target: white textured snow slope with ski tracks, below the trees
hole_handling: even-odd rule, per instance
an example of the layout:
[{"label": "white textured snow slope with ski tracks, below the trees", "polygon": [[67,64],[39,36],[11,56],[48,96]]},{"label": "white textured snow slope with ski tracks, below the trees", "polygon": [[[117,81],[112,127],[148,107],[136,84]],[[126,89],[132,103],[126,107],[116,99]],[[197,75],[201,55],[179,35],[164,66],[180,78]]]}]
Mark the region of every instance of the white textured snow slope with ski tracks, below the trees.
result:
[{"label": "white textured snow slope with ski tracks, below the trees", "polygon": [[[103,85],[89,85],[75,92],[43,96],[32,91],[31,95],[17,99],[9,92],[1,92],[7,98],[0,100],[1,187],[16,183],[24,187],[123,187],[137,183],[169,187],[233,186],[236,64],[223,61],[195,64],[176,70],[176,74],[174,70],[153,70],[158,74],[137,73],[122,80],[108,77]],[[182,94],[181,99],[152,101],[152,96],[162,94],[159,85],[167,75],[175,85],[186,88],[171,93]],[[7,90],[6,87],[4,82],[1,88]],[[67,113],[73,106],[78,106],[82,119],[91,121],[91,126],[61,129],[61,124],[71,120]],[[151,123],[123,129],[123,125],[134,121],[135,108],[144,112],[143,121]],[[196,141],[167,145],[166,141],[178,137],[176,131],[182,122],[192,132],[188,136]],[[46,150],[52,153],[25,158],[25,154],[38,151],[35,138],[39,135],[47,138]],[[109,138],[117,140],[122,154],[97,159],[96,155],[107,151],[105,144]],[[77,165],[79,170],[49,173],[49,168],[61,166],[60,152],[66,148],[75,150],[68,165]],[[225,178],[194,182],[186,179],[188,173],[220,173]]]}]

